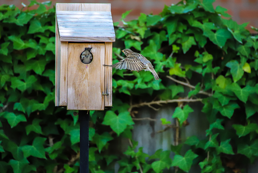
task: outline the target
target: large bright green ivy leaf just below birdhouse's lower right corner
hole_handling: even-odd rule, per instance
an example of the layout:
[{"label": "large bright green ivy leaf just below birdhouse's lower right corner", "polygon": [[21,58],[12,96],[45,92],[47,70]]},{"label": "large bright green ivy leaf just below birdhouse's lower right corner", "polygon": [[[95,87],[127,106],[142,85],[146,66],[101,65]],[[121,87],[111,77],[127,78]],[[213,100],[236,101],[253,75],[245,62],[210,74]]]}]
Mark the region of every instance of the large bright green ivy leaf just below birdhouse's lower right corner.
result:
[{"label": "large bright green ivy leaf just below birdhouse's lower right corner", "polygon": [[112,130],[119,136],[126,129],[127,125],[133,125],[134,122],[129,112],[123,112],[117,116],[114,112],[107,111],[102,124],[110,125]]}]

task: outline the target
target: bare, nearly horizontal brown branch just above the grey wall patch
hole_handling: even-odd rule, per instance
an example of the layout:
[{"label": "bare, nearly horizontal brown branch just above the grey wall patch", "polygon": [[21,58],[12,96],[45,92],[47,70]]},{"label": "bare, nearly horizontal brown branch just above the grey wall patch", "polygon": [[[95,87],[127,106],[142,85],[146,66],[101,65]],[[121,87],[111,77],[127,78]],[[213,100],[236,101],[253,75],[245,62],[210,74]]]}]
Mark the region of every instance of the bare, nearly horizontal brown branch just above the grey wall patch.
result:
[{"label": "bare, nearly horizontal brown branch just above the grey wall patch", "polygon": [[[159,105],[162,106],[162,104],[167,104],[167,103],[174,103],[174,102],[195,102],[195,101],[202,101],[202,99],[173,99],[173,100],[159,100],[159,101],[151,101],[151,102],[143,102],[143,103],[138,103],[131,105],[128,109],[129,112],[132,111],[133,108],[139,108],[143,106],[151,106],[151,105]],[[152,106],[151,106],[152,107]],[[156,108],[155,108],[156,109]],[[155,110],[154,109],[154,110]]]}]

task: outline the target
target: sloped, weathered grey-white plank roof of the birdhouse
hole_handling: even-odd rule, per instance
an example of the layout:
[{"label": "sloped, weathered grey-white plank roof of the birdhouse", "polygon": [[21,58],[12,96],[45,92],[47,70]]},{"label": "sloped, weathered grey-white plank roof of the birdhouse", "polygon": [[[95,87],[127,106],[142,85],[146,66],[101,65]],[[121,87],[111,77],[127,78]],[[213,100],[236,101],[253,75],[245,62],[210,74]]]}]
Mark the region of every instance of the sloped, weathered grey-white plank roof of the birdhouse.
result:
[{"label": "sloped, weathered grey-white plank roof of the birdhouse", "polygon": [[114,42],[110,11],[56,11],[60,41]]}]

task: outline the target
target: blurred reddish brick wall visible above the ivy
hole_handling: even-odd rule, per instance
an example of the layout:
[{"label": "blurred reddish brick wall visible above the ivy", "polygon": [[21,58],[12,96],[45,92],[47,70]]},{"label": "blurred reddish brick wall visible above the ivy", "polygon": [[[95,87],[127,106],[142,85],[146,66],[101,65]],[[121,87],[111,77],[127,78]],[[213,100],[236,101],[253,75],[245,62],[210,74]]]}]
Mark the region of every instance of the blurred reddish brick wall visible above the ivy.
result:
[{"label": "blurred reddish brick wall visible above the ivy", "polygon": [[[46,0],[45,0],[46,1]],[[1,0],[0,4],[14,4],[21,8],[21,2],[29,4],[28,1],[23,0]],[[38,2],[44,2],[44,0],[38,0]],[[133,9],[128,15],[127,20],[138,18],[140,13],[153,13],[158,14],[162,11],[164,5],[170,6],[172,3],[177,3],[179,0],[53,0],[55,3],[111,3],[111,13],[114,22],[117,22],[121,18],[121,14],[127,10]],[[254,33],[250,29],[250,25],[258,28],[258,0],[216,0],[214,7],[222,6],[228,9],[233,20],[239,24],[250,22],[247,29]]]}]

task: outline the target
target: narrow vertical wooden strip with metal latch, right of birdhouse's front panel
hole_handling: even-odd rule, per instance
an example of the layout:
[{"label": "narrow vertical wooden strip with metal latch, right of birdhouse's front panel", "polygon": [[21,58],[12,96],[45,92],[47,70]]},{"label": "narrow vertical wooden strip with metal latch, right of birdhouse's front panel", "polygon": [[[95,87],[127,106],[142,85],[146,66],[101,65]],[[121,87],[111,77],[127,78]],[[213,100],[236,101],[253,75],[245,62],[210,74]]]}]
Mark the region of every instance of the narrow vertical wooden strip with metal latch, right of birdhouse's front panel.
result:
[{"label": "narrow vertical wooden strip with metal latch, right of birdhouse's front panel", "polygon": [[[112,42],[105,42],[105,64],[112,64]],[[105,67],[105,106],[112,106],[112,67]]]}]

